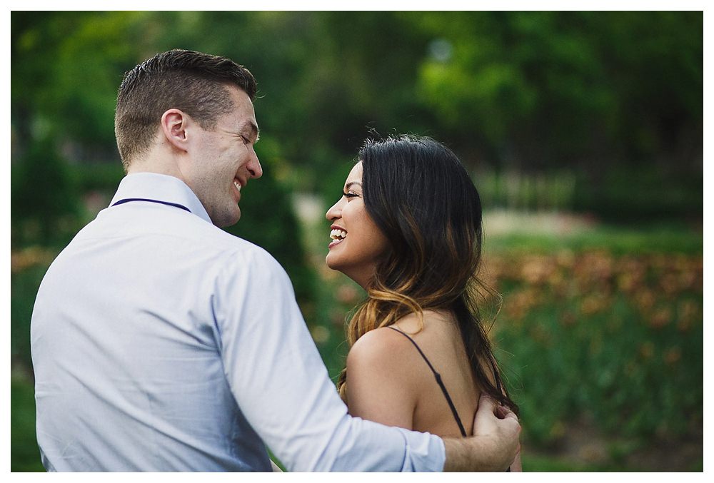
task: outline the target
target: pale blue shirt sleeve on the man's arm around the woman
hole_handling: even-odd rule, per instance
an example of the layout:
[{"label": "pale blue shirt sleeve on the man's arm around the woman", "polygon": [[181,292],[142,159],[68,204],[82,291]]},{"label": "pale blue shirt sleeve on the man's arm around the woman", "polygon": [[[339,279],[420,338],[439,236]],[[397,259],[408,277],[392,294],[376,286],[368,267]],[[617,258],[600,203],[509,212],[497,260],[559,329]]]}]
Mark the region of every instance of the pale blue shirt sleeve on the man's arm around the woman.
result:
[{"label": "pale blue shirt sleeve on the man's arm around the woman", "polygon": [[291,471],[441,471],[443,441],[350,417],[285,270],[243,250],[216,281],[221,357],[238,407]]}]

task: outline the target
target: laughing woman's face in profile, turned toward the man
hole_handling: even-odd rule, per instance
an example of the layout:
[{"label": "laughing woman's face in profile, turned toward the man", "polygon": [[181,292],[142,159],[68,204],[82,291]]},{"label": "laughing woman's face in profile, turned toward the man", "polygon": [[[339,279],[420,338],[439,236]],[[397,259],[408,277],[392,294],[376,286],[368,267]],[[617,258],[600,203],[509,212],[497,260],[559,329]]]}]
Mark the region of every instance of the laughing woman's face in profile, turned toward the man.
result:
[{"label": "laughing woman's face in profile, turned toward the man", "polygon": [[332,225],[330,251],[325,261],[329,268],[341,271],[366,289],[389,243],[368,215],[362,193],[359,162],[347,176],[342,197],[326,213]]}]

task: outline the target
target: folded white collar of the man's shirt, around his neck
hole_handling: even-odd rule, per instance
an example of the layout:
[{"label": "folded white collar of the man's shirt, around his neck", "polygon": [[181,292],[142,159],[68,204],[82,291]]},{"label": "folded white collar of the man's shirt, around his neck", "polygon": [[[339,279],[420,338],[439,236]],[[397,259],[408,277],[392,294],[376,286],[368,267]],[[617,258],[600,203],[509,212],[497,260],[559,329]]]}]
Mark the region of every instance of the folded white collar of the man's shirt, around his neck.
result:
[{"label": "folded white collar of the man's shirt, around his neck", "polygon": [[212,223],[206,208],[203,208],[201,201],[196,198],[191,188],[188,188],[186,183],[174,178],[174,176],[159,173],[133,173],[126,175],[119,183],[119,188],[116,189],[116,194],[111,199],[109,206],[126,198],[148,198],[177,203],[178,205],[186,206],[194,215],[198,215],[208,223]]}]

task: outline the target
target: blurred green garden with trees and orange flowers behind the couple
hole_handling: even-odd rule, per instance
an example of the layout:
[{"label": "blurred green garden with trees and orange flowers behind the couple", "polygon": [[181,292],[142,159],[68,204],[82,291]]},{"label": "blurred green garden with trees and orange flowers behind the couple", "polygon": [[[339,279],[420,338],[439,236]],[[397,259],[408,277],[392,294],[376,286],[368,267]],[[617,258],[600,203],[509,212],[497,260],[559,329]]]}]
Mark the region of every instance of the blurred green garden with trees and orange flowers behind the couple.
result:
[{"label": "blurred green garden with trees and orange flowers behind the couple", "polygon": [[264,175],[229,231],[288,270],[333,377],[363,292],[324,213],[370,133],[428,135],[483,198],[524,470],[703,469],[702,12],[13,11],[12,471],[43,470],[39,282],[124,175],[123,73],[177,47],[258,79]]}]

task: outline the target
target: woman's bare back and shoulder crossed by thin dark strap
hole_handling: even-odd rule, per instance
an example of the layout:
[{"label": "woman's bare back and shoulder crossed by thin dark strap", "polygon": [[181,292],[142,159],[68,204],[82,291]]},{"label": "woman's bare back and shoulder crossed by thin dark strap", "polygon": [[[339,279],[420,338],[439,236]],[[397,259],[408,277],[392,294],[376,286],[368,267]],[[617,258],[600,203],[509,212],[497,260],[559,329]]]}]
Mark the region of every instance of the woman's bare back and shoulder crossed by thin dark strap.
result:
[{"label": "woman's bare back and shoulder crossed by thin dark strap", "polygon": [[[456,320],[449,312],[426,310],[420,327],[416,315],[407,315],[391,327],[367,332],[353,345],[347,357],[350,413],[442,437],[460,437],[448,403],[451,399],[466,434],[471,434],[481,392]],[[448,398],[429,364],[440,375]]]}]

